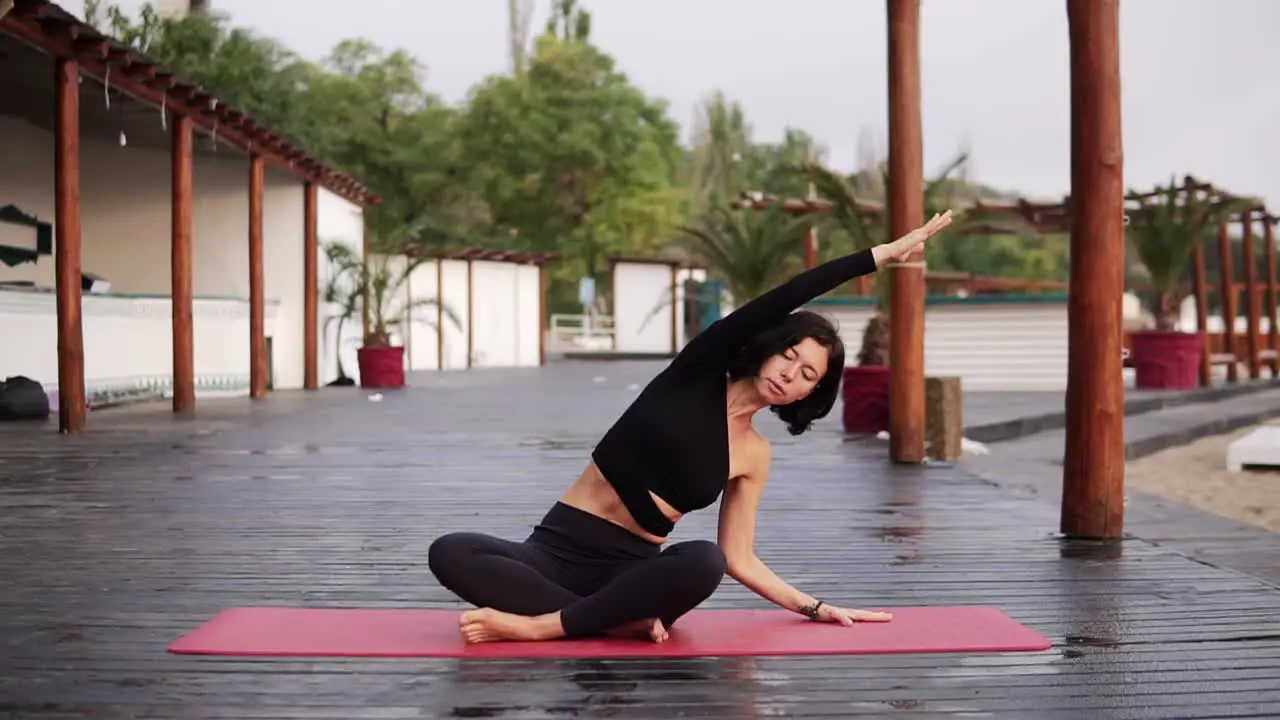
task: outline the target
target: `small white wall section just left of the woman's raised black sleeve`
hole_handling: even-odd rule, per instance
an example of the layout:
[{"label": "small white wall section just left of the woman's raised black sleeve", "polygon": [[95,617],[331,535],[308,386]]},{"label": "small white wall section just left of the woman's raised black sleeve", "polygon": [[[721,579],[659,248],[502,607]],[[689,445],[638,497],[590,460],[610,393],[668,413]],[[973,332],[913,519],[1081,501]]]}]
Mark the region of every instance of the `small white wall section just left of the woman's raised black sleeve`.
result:
[{"label": "small white wall section just left of the woman's raised black sleeve", "polygon": [[671,323],[680,313],[671,304],[671,266],[616,263],[612,279],[613,350],[672,352]]}]

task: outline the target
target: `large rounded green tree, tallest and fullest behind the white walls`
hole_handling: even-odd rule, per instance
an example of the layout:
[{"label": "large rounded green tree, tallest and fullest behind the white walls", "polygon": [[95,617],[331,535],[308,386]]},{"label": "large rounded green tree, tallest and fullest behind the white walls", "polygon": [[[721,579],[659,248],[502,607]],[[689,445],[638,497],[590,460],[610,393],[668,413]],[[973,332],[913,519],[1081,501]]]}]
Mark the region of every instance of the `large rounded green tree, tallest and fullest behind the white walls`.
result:
[{"label": "large rounded green tree, tallest and fullest behind the white walls", "polygon": [[650,254],[669,240],[681,219],[680,146],[666,104],[582,36],[589,23],[557,17],[524,74],[472,91],[460,129],[495,229],[568,256],[552,275],[554,300],[567,304],[572,281],[599,275],[609,254]]}]

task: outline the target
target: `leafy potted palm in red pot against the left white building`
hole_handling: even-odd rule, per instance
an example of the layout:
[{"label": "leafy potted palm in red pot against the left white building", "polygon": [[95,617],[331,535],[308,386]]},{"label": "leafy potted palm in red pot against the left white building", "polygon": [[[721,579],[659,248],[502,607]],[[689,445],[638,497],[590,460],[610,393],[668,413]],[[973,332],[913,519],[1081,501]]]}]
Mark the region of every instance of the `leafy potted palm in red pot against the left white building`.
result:
[{"label": "leafy potted palm in red pot against the left white building", "polygon": [[[349,246],[340,242],[325,243],[324,251],[332,269],[325,300],[339,309],[330,318],[338,322],[339,341],[340,328],[346,322],[355,322],[366,314],[369,318],[369,329],[356,351],[361,387],[404,386],[404,346],[394,342],[394,333],[413,322],[434,327],[440,332],[435,322],[415,316],[413,310],[436,307],[440,315],[447,316],[461,329],[462,322],[457,314],[438,297],[411,299],[404,292],[404,283],[410,275],[419,265],[431,261],[430,258],[390,254],[360,258]],[[342,374],[340,361],[339,374]]]}]

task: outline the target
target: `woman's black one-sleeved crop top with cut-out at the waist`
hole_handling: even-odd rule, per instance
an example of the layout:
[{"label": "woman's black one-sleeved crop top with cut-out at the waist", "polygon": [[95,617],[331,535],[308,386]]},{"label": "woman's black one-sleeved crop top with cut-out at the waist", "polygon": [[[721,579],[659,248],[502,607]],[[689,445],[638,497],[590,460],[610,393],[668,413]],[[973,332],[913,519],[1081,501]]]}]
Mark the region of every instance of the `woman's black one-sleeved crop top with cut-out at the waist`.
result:
[{"label": "woman's black one-sleeved crop top with cut-out at the waist", "polygon": [[685,514],[716,502],[724,489],[728,364],[746,341],[840,283],[874,270],[872,251],[863,250],[795,275],[712,323],[644,388],[591,454],[641,528],[660,537],[675,528],[650,491]]}]

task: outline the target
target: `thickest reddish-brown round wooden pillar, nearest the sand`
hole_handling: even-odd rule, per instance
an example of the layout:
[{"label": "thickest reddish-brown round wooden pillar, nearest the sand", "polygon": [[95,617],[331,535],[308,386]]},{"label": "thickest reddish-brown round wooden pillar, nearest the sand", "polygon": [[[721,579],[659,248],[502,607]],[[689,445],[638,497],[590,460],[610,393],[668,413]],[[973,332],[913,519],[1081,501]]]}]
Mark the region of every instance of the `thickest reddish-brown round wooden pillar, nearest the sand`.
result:
[{"label": "thickest reddish-brown round wooden pillar, nearest the sand", "polygon": [[1061,532],[1124,525],[1124,145],[1120,1],[1068,0],[1071,50],[1071,273]]}]

